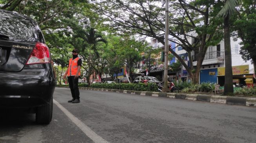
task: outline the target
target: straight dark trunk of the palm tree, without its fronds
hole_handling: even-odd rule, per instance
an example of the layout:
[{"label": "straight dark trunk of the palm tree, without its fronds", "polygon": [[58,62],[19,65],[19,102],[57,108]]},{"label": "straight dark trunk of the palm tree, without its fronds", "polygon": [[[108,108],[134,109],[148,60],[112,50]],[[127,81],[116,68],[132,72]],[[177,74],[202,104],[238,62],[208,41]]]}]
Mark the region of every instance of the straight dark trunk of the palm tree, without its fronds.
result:
[{"label": "straight dark trunk of the palm tree, without its fronds", "polygon": [[224,18],[224,48],[225,48],[225,83],[224,95],[233,95],[233,72],[232,72],[232,57],[230,45],[230,31],[229,31],[229,16]]}]

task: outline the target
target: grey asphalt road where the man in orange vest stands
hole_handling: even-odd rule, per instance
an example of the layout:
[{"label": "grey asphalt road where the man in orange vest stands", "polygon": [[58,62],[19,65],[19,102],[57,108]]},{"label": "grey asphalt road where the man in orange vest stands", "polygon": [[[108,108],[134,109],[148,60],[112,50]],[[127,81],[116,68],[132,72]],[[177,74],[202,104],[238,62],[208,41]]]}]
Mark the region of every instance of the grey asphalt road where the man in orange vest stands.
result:
[{"label": "grey asphalt road where the man in orange vest stands", "polygon": [[0,143],[256,142],[255,107],[88,90],[72,104],[70,93],[55,89],[55,103],[72,116],[54,104],[49,125],[36,125],[34,114],[1,110]]}]

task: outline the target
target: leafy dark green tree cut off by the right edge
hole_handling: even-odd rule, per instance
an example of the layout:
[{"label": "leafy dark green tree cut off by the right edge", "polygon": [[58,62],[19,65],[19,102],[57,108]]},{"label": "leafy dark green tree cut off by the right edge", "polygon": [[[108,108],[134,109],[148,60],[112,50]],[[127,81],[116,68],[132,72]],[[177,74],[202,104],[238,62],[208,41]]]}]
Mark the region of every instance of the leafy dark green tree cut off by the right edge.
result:
[{"label": "leafy dark green tree cut off by the right edge", "polygon": [[240,54],[245,61],[252,61],[256,74],[256,1],[241,0],[234,21],[236,39],[241,39]]}]

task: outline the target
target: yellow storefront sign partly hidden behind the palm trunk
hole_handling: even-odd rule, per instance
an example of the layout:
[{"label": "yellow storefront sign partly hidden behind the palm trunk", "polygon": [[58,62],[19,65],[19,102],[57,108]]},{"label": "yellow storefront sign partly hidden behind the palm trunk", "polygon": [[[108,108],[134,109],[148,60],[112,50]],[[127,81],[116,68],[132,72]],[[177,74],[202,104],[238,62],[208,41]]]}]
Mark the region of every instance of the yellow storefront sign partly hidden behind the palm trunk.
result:
[{"label": "yellow storefront sign partly hidden behind the palm trunk", "polygon": [[[249,64],[242,66],[232,66],[233,75],[249,74]],[[218,68],[218,75],[225,75],[225,67]]]}]

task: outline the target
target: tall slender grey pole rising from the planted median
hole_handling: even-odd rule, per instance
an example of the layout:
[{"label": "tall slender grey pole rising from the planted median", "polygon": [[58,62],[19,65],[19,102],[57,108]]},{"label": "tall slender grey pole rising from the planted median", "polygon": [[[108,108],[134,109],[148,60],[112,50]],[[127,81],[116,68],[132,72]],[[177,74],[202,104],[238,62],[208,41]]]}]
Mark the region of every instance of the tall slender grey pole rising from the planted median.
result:
[{"label": "tall slender grey pole rising from the planted median", "polygon": [[169,8],[168,1],[165,0],[165,50],[164,50],[164,72],[163,72],[163,92],[167,92],[168,89],[168,53],[169,53]]}]

